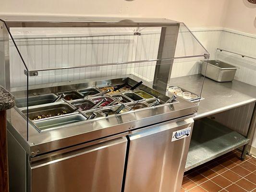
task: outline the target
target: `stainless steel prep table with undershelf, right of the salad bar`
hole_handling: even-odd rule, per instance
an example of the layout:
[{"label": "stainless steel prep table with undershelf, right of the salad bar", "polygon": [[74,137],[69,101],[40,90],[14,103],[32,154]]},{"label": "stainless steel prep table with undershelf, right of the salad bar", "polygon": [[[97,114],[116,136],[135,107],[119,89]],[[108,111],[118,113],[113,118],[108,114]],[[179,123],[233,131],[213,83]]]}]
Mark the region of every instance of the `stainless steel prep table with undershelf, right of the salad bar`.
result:
[{"label": "stainless steel prep table with undershelf, right of the salad bar", "polygon": [[[172,85],[182,87],[191,92],[196,92],[199,89],[197,82],[202,78],[203,76],[201,76],[200,74],[173,78]],[[254,112],[252,114],[250,126],[245,136],[241,136],[239,133],[234,132],[220,124],[216,124],[216,127],[213,126],[209,128],[209,125],[211,124],[209,124],[209,121],[207,121],[208,124],[199,124],[196,122],[202,120],[207,116],[221,113],[223,111],[227,111],[233,108],[239,108],[244,105],[252,104],[255,106],[256,86],[245,84],[237,80],[233,80],[232,82],[219,83],[205,78],[204,87],[202,90],[202,97],[204,99],[200,101],[200,106],[198,108],[196,116],[194,117],[194,120],[195,127],[196,124],[198,124],[198,126],[200,126],[200,129],[207,133],[207,143],[202,143],[202,141],[199,142],[199,140],[202,140],[201,138],[204,137],[204,135],[202,132],[195,132],[196,129],[194,128],[194,136],[192,135],[185,170],[189,170],[198,165],[201,165],[213,158],[221,156],[231,151],[232,149],[238,148],[243,145],[244,149],[241,158],[244,158],[246,152],[248,151],[248,138],[252,137],[253,131],[255,129],[255,107],[253,109]],[[209,134],[209,132],[213,133],[212,135],[214,135],[214,132],[223,130],[226,131],[226,134],[218,135],[218,139],[211,138],[209,136],[211,135]],[[236,140],[231,139],[234,137],[239,138],[237,138]],[[198,154],[200,158],[195,158],[195,154]]]}]

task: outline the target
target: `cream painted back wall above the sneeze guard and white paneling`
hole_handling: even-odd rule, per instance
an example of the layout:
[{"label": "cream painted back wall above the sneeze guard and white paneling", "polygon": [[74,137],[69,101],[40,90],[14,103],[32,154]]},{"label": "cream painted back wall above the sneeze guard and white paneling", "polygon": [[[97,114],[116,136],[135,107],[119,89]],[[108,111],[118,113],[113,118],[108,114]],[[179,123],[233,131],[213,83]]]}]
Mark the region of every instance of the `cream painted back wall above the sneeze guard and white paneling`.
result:
[{"label": "cream painted back wall above the sneeze guard and white paneling", "polygon": [[1,0],[0,14],[164,17],[220,27],[228,0]]}]

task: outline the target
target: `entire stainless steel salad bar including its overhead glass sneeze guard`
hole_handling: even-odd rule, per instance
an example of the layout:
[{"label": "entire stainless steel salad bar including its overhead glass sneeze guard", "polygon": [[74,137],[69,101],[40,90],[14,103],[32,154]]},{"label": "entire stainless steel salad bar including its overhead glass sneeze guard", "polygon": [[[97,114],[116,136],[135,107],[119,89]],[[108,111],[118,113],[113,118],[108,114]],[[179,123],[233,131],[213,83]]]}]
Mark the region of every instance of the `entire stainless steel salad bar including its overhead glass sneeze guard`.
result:
[{"label": "entire stainless steel salad bar including its overhead glass sneeze guard", "polygon": [[[1,51],[11,50],[0,84],[16,99],[10,192],[180,192],[201,92],[169,89],[172,65],[209,56],[185,24],[13,15],[0,24]],[[186,38],[198,53],[176,50]]]}]

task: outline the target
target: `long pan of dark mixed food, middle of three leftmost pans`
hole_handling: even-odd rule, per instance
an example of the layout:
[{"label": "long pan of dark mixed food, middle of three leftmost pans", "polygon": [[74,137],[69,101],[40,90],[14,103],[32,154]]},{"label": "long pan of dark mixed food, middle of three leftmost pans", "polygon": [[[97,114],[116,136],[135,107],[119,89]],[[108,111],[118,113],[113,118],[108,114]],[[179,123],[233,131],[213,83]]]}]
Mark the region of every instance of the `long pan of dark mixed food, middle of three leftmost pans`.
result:
[{"label": "long pan of dark mixed food, middle of three leftmost pans", "polygon": [[[51,105],[44,105],[40,107],[32,107],[22,109],[21,111],[26,115],[28,112],[28,118],[31,120],[45,119],[49,117],[60,116],[60,114],[68,114],[73,108],[67,103],[55,103]],[[38,118],[39,116],[39,118]],[[42,117],[44,116],[44,117]],[[40,118],[41,117],[41,118]]]}]

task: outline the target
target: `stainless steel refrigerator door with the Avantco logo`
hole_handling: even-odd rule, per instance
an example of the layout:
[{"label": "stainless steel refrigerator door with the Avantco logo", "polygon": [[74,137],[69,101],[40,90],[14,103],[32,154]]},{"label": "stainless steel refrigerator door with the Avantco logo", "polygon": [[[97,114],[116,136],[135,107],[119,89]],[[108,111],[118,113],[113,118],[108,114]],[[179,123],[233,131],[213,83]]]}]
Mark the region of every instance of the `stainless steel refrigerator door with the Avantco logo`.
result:
[{"label": "stainless steel refrigerator door with the Avantco logo", "polygon": [[189,118],[132,132],[124,192],[180,192],[193,124]]}]

